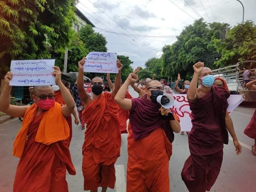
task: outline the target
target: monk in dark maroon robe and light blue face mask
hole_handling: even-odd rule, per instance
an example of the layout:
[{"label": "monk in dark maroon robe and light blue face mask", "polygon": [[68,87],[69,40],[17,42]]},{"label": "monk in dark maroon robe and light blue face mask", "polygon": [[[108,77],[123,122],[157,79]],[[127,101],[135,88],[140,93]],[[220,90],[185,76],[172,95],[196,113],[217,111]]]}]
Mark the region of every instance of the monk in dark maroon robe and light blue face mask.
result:
[{"label": "monk in dark maroon robe and light blue face mask", "polygon": [[[236,154],[241,145],[234,131],[233,122],[227,112],[230,93],[224,87],[212,86],[212,70],[198,62],[194,66],[187,99],[192,115],[189,134],[190,156],[186,160],[181,177],[189,192],[209,191],[221,169],[223,144],[228,144],[228,132],[233,138]],[[197,89],[197,82],[201,86]]]}]

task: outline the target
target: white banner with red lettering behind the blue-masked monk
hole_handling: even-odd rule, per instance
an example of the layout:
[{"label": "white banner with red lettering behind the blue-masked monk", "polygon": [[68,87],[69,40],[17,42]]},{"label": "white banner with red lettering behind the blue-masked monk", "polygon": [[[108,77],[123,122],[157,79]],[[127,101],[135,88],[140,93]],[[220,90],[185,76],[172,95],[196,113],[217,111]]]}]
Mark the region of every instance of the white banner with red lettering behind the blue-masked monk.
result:
[{"label": "white banner with red lettering behind the blue-masked monk", "polygon": [[[173,96],[175,102],[172,106],[172,110],[180,118],[181,131],[190,131],[192,128],[192,116],[186,94],[174,94]],[[244,99],[241,95],[230,95],[230,97],[227,99],[229,104],[227,112],[231,113],[234,111],[243,101]]]}]

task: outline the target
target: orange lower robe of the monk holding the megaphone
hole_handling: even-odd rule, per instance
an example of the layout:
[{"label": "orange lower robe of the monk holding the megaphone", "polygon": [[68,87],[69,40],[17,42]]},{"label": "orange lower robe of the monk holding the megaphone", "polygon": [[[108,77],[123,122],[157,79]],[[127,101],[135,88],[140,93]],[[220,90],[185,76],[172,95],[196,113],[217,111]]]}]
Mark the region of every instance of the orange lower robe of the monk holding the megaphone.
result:
[{"label": "orange lower robe of the monk holding the megaphone", "polygon": [[128,124],[126,192],[169,192],[169,160],[172,144],[162,128],[134,141]]}]

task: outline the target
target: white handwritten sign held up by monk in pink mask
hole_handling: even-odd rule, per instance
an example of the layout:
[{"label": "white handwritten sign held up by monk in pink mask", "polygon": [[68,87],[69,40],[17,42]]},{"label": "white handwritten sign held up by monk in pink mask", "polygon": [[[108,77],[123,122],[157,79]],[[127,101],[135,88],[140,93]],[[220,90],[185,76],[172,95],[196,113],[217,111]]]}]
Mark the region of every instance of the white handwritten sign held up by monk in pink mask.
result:
[{"label": "white handwritten sign held up by monk in pink mask", "polygon": [[35,86],[55,84],[52,76],[55,59],[21,60],[11,62],[13,86]]}]

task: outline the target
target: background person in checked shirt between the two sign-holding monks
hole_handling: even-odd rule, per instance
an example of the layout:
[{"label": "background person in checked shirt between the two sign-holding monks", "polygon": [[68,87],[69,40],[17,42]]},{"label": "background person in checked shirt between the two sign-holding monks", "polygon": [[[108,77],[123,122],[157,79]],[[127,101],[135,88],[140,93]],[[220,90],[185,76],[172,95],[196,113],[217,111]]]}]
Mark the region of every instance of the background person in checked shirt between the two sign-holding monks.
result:
[{"label": "background person in checked shirt between the two sign-holding monks", "polygon": [[[84,84],[84,89],[86,89],[87,87],[88,87],[88,85]],[[82,116],[82,112],[84,110],[84,104],[83,104],[83,102],[82,102],[82,100],[79,96],[79,93],[78,93],[77,81],[76,81],[76,84],[74,84],[74,86],[72,87],[71,91],[72,91],[72,93],[74,95],[74,98],[75,98],[78,117],[79,117],[79,120],[80,120],[80,123],[81,123],[81,130],[84,130],[85,129],[84,117]]]}]

